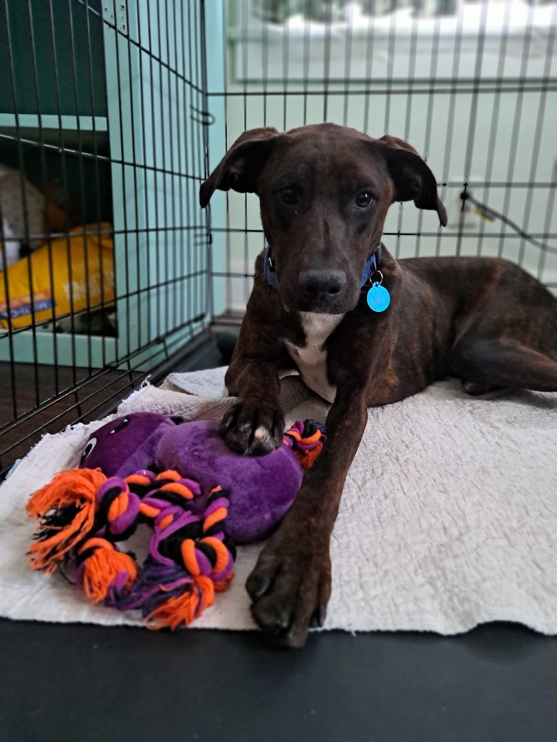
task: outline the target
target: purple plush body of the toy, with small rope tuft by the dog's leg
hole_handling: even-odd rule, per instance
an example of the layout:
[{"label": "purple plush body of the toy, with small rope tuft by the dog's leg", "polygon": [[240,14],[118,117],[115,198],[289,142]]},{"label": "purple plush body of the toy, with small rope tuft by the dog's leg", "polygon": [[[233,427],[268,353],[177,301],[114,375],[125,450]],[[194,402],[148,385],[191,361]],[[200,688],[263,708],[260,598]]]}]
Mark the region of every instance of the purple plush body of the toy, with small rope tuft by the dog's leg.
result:
[{"label": "purple plush body of the toy, with small rope tuft by the dog's leg", "polygon": [[[241,456],[224,444],[213,421],[183,423],[182,418],[131,413],[91,435],[79,466],[98,467],[108,477],[172,469],[195,479],[204,493],[220,485],[230,493],[227,533],[236,543],[247,543],[267,536],[290,508],[303,468],[313,463],[324,440],[319,424],[296,423],[273,453]],[[204,499],[195,507],[203,510]]]}]

